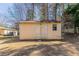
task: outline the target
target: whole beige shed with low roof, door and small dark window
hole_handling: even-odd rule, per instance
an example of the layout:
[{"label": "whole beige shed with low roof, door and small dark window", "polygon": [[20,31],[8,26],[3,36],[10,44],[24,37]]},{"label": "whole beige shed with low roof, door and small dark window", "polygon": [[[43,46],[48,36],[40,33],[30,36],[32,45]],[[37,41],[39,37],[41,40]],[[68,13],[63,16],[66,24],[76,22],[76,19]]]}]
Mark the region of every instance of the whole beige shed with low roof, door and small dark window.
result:
[{"label": "whole beige shed with low roof, door and small dark window", "polygon": [[60,21],[21,21],[19,23],[20,40],[62,39]]}]

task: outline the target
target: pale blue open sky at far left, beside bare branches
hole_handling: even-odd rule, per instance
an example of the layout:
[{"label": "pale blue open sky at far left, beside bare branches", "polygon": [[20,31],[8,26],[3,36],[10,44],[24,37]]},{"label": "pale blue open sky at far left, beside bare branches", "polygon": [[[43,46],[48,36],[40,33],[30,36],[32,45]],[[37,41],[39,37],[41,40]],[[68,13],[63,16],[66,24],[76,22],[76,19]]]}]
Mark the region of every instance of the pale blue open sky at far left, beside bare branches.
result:
[{"label": "pale blue open sky at far left, beside bare branches", "polygon": [[11,23],[8,23],[8,20],[5,18],[5,16],[10,15],[8,13],[8,8],[10,7],[13,7],[12,3],[0,3],[0,24],[11,25]]}]

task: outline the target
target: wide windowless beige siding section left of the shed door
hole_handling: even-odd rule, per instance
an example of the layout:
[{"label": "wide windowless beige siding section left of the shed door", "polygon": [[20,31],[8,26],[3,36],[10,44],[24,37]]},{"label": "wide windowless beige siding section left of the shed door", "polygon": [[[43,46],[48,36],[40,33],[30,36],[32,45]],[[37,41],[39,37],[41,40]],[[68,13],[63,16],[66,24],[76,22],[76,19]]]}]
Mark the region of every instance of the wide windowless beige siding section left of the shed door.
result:
[{"label": "wide windowless beige siding section left of the shed door", "polygon": [[21,24],[20,25],[20,39],[39,39],[40,25],[39,24]]}]

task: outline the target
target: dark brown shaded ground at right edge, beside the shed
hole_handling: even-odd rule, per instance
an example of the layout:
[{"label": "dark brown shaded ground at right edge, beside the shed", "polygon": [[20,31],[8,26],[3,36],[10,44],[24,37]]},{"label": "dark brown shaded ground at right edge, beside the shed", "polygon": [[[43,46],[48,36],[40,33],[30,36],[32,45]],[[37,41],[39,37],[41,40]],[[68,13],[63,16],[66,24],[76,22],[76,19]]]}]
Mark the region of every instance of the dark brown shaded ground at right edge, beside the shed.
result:
[{"label": "dark brown shaded ground at right edge, beside the shed", "polygon": [[74,34],[74,33],[65,33],[63,36],[65,42],[68,42],[70,44],[73,44],[74,47],[79,51],[79,33]]}]

